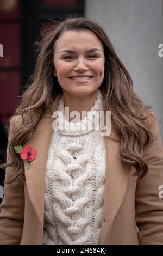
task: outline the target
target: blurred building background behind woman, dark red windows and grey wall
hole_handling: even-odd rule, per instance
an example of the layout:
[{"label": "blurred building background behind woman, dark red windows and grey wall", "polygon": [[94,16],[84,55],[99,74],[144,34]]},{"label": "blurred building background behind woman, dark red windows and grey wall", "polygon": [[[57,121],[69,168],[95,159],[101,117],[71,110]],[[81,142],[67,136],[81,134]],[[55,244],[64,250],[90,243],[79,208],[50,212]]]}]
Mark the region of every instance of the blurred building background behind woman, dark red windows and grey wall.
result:
[{"label": "blurred building background behind woman, dark red windows and grey wall", "polygon": [[[101,24],[130,72],[134,90],[163,124],[162,0],[0,0],[0,117],[2,128],[34,70],[34,42],[53,21],[70,15]],[[2,56],[2,54],[0,54]],[[163,140],[163,125],[159,123]],[[1,132],[1,141],[4,135]],[[7,139],[1,155],[5,159]],[[0,177],[1,179],[1,177]],[[1,184],[0,184],[1,185]]]}]

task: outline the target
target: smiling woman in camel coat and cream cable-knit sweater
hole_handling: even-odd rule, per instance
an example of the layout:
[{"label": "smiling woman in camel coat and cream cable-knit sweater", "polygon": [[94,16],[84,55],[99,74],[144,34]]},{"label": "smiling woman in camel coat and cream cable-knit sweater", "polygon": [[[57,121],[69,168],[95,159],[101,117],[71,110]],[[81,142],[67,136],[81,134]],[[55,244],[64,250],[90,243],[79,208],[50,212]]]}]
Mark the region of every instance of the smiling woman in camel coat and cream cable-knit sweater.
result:
[{"label": "smiling woman in camel coat and cream cable-knit sweater", "polygon": [[[66,107],[85,115],[75,123]],[[163,245],[163,148],[149,108],[101,26],[60,22],[10,120],[0,243]],[[103,136],[93,115],[108,111]]]}]

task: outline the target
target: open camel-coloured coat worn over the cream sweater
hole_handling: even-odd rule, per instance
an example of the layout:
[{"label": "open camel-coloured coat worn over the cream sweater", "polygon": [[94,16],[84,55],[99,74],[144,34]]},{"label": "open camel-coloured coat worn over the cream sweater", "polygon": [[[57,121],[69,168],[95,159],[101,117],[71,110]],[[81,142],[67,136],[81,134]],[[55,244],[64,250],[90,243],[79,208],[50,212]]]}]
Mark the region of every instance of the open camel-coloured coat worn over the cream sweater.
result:
[{"label": "open camel-coloured coat worn over the cream sweater", "polygon": [[[59,99],[60,95],[54,100],[54,110]],[[52,114],[45,114],[26,143],[37,150],[29,170],[27,160],[23,160],[26,181],[4,186],[0,245],[43,245],[44,182],[53,121]],[[21,125],[19,116],[11,119],[9,139],[17,125]],[[140,182],[132,176],[134,167],[120,160],[120,142],[114,130],[104,137],[106,175],[100,245],[163,245],[163,147],[155,114],[148,129],[154,139],[143,151],[149,170]],[[6,168],[5,180],[12,173],[11,167]]]}]

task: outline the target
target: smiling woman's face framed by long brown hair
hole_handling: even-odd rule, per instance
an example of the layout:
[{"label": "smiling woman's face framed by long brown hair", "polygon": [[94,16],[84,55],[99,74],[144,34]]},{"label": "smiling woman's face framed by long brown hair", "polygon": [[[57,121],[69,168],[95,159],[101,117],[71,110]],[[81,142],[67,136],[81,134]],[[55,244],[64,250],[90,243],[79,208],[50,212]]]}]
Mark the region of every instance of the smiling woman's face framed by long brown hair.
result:
[{"label": "smiling woman's face framed by long brown hair", "polygon": [[67,93],[95,92],[104,78],[104,62],[103,44],[90,30],[66,31],[55,42],[54,76]]}]

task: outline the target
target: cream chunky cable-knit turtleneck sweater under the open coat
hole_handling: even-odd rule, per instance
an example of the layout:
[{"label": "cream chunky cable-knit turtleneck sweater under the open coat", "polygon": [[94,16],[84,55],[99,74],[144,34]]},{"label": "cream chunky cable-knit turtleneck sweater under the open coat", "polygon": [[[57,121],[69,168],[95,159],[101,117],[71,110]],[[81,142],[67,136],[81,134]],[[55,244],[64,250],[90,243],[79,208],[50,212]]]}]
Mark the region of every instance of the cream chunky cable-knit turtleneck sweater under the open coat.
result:
[{"label": "cream chunky cable-knit turtleneck sweater under the open coat", "polygon": [[[44,245],[99,245],[105,141],[101,131],[95,130],[97,120],[93,120],[90,130],[79,127],[86,127],[93,112],[102,110],[98,89],[97,100],[82,121],[66,121],[64,130],[59,127],[53,131],[45,175]],[[58,111],[64,115],[63,95]]]}]

